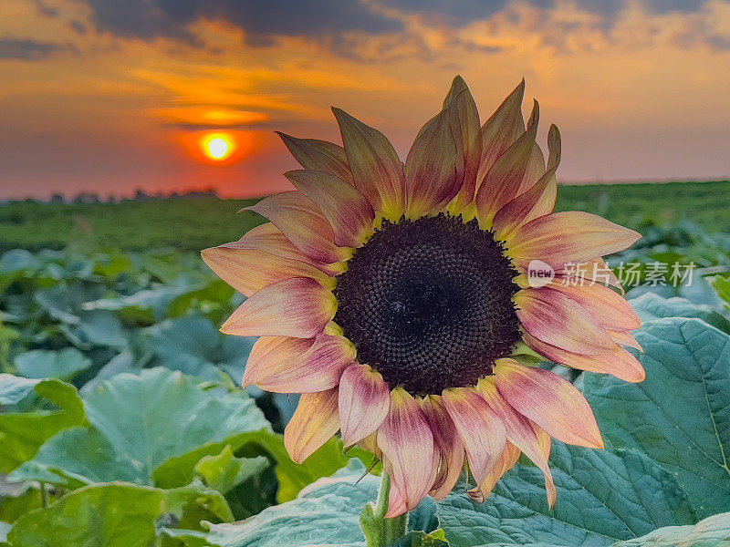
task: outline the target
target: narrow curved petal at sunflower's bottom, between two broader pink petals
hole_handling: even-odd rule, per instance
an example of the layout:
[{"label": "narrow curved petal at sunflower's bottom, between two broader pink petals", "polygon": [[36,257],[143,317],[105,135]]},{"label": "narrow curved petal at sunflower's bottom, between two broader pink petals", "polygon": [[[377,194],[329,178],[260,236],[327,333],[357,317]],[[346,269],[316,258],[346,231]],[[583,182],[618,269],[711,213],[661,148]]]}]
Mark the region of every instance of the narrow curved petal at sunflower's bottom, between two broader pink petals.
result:
[{"label": "narrow curved petal at sunflower's bottom, between two broader pink petals", "polygon": [[441,454],[441,465],[438,469],[432,490],[429,492],[434,500],[443,500],[451,490],[464,468],[464,444],[456,433],[454,420],[441,397],[429,395],[422,399],[421,408],[428,419],[433,432],[433,440]]}]

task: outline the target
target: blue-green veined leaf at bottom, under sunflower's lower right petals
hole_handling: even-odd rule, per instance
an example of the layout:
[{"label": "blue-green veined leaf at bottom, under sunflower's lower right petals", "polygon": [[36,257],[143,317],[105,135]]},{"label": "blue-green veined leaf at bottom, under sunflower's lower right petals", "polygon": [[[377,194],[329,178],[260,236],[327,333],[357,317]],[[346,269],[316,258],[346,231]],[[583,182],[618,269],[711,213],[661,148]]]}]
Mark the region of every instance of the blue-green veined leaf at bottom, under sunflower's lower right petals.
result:
[{"label": "blue-green veined leaf at bottom, under sunflower's lower right petals", "polygon": [[655,528],[690,524],[696,515],[673,476],[639,452],[571,447],[554,441],[550,456],[558,501],[547,507],[542,471],[517,465],[484,503],[464,488],[436,503],[454,547],[490,542],[603,546]]}]

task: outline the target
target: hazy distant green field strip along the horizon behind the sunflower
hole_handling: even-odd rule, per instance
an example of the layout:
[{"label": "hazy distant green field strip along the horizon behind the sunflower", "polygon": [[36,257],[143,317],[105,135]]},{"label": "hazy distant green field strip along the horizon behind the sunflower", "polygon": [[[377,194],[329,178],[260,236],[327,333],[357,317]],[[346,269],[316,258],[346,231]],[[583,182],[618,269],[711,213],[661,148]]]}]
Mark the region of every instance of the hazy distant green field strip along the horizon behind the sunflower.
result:
[{"label": "hazy distant green field strip along the horizon behind the sunflower", "polygon": [[[0,252],[23,248],[63,249],[70,243],[92,248],[139,251],[172,247],[196,253],[238,239],[262,219],[235,214],[250,204],[213,196],[0,206]],[[561,186],[558,211],[587,211],[638,229],[692,222],[705,232],[730,232],[730,182],[595,184]]]}]

